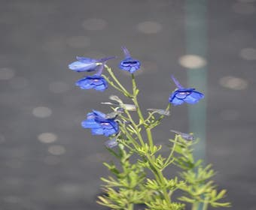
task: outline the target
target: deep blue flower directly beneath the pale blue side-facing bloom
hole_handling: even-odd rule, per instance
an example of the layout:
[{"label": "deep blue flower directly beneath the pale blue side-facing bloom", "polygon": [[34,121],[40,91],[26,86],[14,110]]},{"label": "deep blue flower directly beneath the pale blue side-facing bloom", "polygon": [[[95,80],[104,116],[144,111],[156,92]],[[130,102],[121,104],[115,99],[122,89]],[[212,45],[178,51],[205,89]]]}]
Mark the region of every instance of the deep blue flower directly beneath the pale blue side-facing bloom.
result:
[{"label": "deep blue flower directly beneath the pale blue side-facing bloom", "polygon": [[79,86],[81,89],[95,89],[96,91],[103,92],[105,89],[108,89],[108,83],[101,76],[104,65],[100,65],[97,68],[99,70],[93,76],[84,77],[81,80],[78,80],[75,84]]}]

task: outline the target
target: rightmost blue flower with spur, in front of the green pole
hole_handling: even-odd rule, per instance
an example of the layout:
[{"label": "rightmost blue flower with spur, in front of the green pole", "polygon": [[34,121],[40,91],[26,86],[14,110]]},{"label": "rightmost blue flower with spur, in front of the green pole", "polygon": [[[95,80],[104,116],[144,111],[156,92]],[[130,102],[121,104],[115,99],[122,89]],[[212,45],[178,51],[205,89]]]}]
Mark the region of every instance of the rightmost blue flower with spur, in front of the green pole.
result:
[{"label": "rightmost blue flower with spur, in front of the green pole", "polygon": [[184,89],[178,80],[172,76],[172,80],[178,89],[172,93],[169,97],[169,102],[172,103],[174,106],[181,105],[184,102],[187,104],[196,104],[200,99],[204,97],[203,93],[195,91],[195,89]]}]

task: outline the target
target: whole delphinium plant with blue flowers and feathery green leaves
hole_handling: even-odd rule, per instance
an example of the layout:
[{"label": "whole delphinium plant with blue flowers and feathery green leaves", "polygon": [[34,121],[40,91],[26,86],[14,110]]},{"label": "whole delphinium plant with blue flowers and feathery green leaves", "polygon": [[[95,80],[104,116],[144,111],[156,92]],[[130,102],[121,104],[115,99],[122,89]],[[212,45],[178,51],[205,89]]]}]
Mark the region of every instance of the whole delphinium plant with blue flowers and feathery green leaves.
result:
[{"label": "whole delphinium plant with blue flowers and feathery green leaves", "polygon": [[[115,57],[77,57],[77,61],[69,65],[72,71],[94,73],[78,80],[76,85],[81,89],[103,92],[110,85],[130,101],[126,104],[117,95],[111,95],[111,102],[102,103],[110,106],[109,113],[93,110],[81,122],[81,126],[91,129],[93,135],[106,137],[105,147],[117,159],[116,164],[104,163],[111,175],[102,178],[104,193],[97,202],[111,209],[129,210],[134,209],[136,204],[144,204],[145,209],[152,210],[229,207],[229,202],[221,202],[226,190],[217,190],[212,181],[215,175],[212,166],[194,159],[193,146],[197,139],[194,139],[193,133],[171,130],[175,137],[166,139],[169,149],[166,156],[163,155],[162,145],[157,145],[151,134],[152,129],[169,116],[172,105],[196,104],[204,97],[203,93],[184,88],[172,76],[177,88],[171,93],[166,109],[151,108],[147,110],[148,115],[143,115],[134,76],[141,63],[130,55],[126,47],[122,49],[124,58],[119,68],[130,73],[130,89],[124,87],[106,65],[109,59]],[[132,113],[138,117],[133,118]],[[170,166],[179,168],[179,172],[164,175],[163,172]]]}]

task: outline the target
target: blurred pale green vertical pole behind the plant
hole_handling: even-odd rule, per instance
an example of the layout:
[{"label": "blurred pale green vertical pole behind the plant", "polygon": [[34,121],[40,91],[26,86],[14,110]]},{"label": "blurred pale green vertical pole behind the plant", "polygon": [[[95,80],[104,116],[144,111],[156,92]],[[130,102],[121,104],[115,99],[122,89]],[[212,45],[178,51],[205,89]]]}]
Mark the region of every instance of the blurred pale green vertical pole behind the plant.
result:
[{"label": "blurred pale green vertical pole behind the plant", "polygon": [[[198,55],[206,59],[207,50],[207,0],[185,1],[185,38],[187,55]],[[200,142],[194,148],[196,160],[206,160],[206,65],[187,69],[188,86],[203,92],[205,98],[198,104],[188,106],[189,130]],[[203,209],[200,205],[198,210]]]}]

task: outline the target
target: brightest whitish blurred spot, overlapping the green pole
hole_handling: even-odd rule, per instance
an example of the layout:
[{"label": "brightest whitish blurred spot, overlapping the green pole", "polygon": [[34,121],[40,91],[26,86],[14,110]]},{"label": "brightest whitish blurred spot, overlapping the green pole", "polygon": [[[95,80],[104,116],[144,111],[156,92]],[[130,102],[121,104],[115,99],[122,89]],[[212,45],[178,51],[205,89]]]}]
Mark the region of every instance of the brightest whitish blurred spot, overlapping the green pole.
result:
[{"label": "brightest whitish blurred spot, overlapping the green pole", "polygon": [[206,59],[199,55],[183,55],[178,62],[184,68],[203,68],[206,66]]}]

